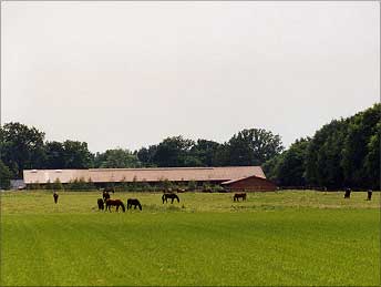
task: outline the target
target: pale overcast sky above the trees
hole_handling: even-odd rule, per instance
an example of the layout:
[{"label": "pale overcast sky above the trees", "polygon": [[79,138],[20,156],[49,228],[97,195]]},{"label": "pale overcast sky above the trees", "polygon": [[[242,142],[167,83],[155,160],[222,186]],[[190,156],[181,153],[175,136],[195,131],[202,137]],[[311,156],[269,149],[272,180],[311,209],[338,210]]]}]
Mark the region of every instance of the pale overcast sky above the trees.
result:
[{"label": "pale overcast sky above the trees", "polygon": [[1,1],[1,124],[93,153],[244,129],[287,147],[379,101],[378,1]]}]

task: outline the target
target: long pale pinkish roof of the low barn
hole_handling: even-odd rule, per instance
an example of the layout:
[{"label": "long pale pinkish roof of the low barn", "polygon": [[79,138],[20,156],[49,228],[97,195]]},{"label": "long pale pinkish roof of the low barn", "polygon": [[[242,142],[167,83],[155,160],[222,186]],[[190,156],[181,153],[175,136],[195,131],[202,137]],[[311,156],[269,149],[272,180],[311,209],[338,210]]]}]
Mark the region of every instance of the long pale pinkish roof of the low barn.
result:
[{"label": "long pale pinkish roof of the low barn", "polygon": [[156,168],[90,168],[90,170],[25,170],[25,184],[54,182],[69,183],[75,178],[106,182],[159,182],[168,181],[230,181],[248,176],[266,178],[260,166],[227,167],[156,167]]}]

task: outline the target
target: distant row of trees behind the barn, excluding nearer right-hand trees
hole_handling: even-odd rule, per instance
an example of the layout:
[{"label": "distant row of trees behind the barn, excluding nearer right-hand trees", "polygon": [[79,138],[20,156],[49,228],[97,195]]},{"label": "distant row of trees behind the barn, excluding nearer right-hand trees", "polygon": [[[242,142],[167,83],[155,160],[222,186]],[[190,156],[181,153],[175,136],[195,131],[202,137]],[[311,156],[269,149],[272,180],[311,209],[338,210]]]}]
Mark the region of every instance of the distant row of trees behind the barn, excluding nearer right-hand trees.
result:
[{"label": "distant row of trees behind the barn, excluding nearer right-hand trees", "polygon": [[282,150],[279,135],[246,129],[223,144],[178,135],[136,151],[91,153],[85,142],[45,141],[44,132],[11,122],[0,127],[0,187],[22,178],[23,170],[261,165]]}]

